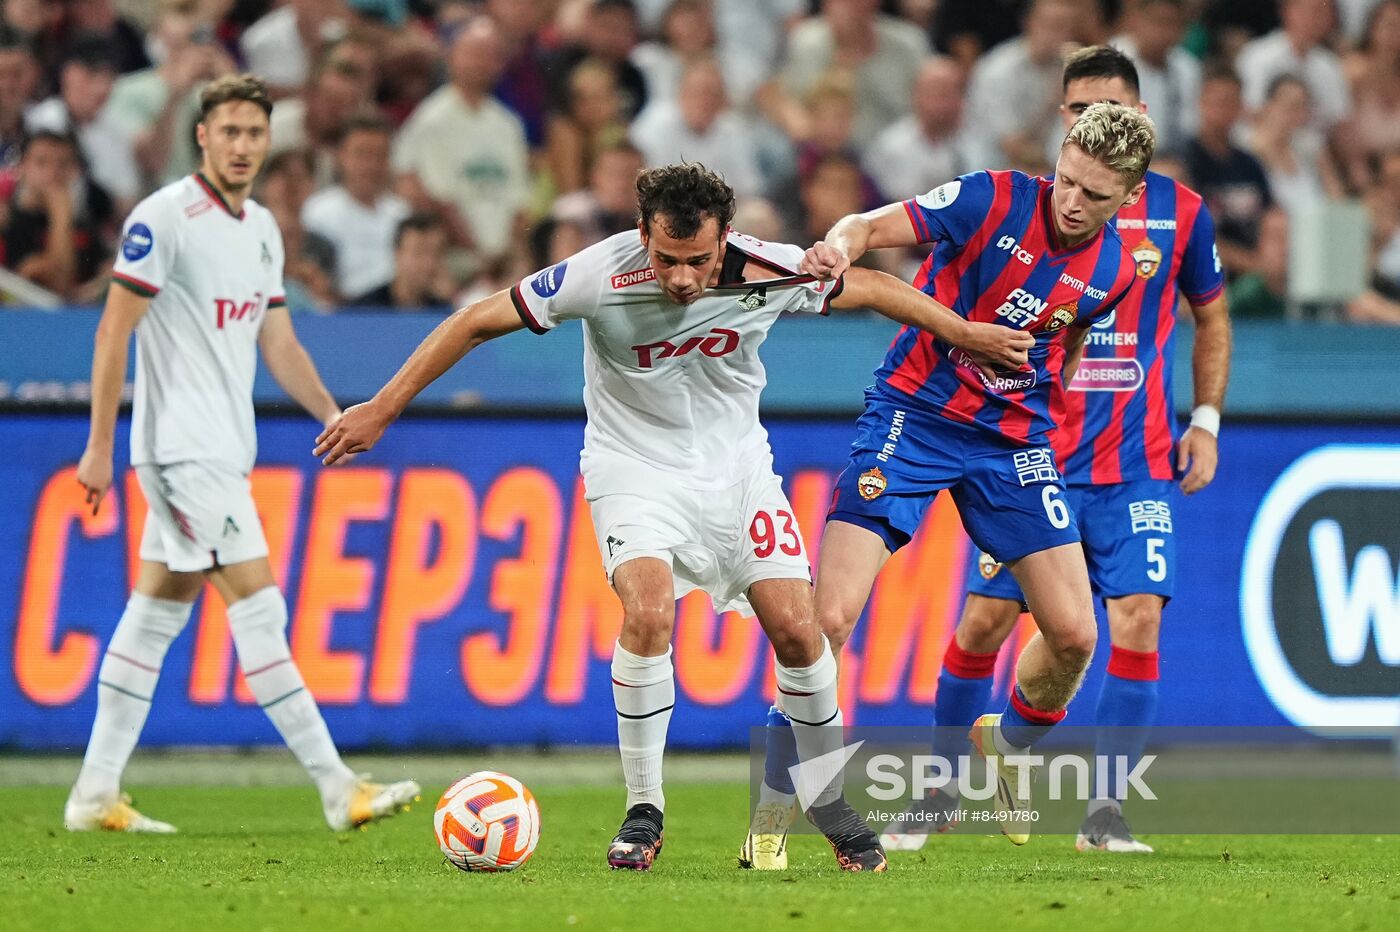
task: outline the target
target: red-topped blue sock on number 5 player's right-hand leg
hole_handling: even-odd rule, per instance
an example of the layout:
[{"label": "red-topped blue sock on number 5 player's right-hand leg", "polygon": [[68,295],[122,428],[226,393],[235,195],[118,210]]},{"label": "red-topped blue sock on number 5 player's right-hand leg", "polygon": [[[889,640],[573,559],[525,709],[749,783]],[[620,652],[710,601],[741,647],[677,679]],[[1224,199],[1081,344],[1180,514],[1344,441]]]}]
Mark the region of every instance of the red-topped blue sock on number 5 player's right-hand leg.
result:
[{"label": "red-topped blue sock on number 5 player's right-hand leg", "polygon": [[[1148,730],[1156,721],[1156,652],[1124,651],[1114,647],[1109,655],[1109,672],[1099,691],[1098,742],[1093,753],[1107,758],[1107,784],[1099,784],[1099,768],[1095,767],[1093,795],[1098,799],[1117,799],[1120,774],[1128,771],[1142,758]],[[1117,758],[1127,758],[1127,768],[1120,768]]]}]

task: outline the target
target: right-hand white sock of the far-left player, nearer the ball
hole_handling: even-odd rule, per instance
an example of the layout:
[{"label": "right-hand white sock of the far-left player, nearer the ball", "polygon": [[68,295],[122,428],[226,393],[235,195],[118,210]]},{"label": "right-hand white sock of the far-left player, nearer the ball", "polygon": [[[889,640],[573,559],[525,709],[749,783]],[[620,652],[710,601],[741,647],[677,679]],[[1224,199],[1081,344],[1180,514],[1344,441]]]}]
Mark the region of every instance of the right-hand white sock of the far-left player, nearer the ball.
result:
[{"label": "right-hand white sock of the far-left player, nearer the ball", "polygon": [[253,698],[316,782],[322,799],[337,799],[354,782],[354,772],[340,760],[316,700],[291,659],[287,602],[277,586],[228,606],[228,628]]}]

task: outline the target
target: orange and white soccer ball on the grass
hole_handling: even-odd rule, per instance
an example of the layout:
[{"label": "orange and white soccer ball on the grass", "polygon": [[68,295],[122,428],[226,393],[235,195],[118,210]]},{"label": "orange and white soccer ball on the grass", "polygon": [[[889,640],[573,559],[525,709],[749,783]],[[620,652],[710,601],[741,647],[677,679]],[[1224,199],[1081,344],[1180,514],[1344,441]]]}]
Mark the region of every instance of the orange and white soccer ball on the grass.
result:
[{"label": "orange and white soccer ball on the grass", "polygon": [[433,831],[438,848],[462,870],[514,870],[539,844],[539,806],[514,777],[483,770],[448,786]]}]

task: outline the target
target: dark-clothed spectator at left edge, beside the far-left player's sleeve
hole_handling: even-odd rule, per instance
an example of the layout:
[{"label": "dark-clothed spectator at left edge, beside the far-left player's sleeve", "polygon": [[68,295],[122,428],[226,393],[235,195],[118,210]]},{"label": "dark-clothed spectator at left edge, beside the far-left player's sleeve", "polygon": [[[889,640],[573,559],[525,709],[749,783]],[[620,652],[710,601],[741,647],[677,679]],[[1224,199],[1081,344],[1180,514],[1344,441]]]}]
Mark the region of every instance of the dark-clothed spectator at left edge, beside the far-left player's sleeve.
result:
[{"label": "dark-clothed spectator at left edge, beside the far-left player's sleeve", "polygon": [[70,301],[91,304],[111,256],[112,202],[83,176],[77,141],[35,130],[24,144],[4,230],[4,264]]}]

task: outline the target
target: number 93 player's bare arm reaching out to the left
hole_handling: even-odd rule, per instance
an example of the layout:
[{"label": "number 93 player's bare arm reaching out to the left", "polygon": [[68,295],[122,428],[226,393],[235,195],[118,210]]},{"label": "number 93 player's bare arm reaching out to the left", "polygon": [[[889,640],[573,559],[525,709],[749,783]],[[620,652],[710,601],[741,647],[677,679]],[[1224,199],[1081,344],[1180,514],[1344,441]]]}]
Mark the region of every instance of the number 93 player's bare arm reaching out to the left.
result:
[{"label": "number 93 player's bare arm reaching out to the left", "polygon": [[379,441],[419,392],[456,365],[458,360],[487,340],[524,326],[510,291],[497,291],[456,311],[423,339],[407,362],[372,399],[346,409],[339,420],[321,431],[312,452],[326,466],[333,466],[349,453],[363,453]]}]

